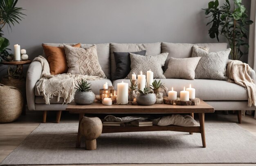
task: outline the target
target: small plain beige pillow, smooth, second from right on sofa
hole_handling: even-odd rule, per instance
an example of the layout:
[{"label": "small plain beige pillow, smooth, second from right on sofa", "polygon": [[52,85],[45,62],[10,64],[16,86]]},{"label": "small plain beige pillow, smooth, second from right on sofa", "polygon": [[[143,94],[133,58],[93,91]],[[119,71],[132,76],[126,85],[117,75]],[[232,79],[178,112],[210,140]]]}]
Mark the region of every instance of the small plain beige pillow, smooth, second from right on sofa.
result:
[{"label": "small plain beige pillow, smooth, second from right on sofa", "polygon": [[201,57],[170,58],[168,68],[164,72],[166,79],[195,79],[195,68]]}]

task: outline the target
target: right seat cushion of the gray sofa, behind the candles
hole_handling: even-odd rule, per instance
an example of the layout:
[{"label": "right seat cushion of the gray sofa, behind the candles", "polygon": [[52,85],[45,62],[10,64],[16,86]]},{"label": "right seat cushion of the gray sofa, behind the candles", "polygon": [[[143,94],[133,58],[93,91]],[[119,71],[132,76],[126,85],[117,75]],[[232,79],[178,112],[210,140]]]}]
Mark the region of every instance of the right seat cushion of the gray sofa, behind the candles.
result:
[{"label": "right seat cushion of the gray sofa, behind the candles", "polygon": [[[130,84],[129,79],[119,79],[113,81],[114,88],[117,89],[117,83],[122,81]],[[195,97],[202,100],[248,100],[247,90],[244,87],[227,81],[209,79],[161,79],[161,81],[165,83],[169,90],[173,87],[178,96],[184,87],[189,87],[189,84],[191,84],[195,88]],[[165,93],[164,95],[166,96]]]}]

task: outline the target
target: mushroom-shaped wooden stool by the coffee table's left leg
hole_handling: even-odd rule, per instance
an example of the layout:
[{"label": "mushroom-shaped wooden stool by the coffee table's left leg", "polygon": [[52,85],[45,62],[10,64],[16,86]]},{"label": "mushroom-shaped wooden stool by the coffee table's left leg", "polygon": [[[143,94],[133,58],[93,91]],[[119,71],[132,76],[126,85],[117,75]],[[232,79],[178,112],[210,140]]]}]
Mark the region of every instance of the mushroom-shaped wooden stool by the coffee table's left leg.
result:
[{"label": "mushroom-shaped wooden stool by the coffee table's left leg", "polygon": [[80,124],[81,134],[85,136],[85,149],[97,149],[96,139],[101,135],[102,122],[98,117],[83,117]]}]

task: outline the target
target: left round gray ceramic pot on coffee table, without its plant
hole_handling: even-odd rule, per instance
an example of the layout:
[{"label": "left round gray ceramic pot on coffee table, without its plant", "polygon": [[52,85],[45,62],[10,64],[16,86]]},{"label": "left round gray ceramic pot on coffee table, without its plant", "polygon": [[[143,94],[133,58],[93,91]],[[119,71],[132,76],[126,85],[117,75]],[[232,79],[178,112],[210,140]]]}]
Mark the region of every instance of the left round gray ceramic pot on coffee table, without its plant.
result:
[{"label": "left round gray ceramic pot on coffee table, without its plant", "polygon": [[95,94],[90,92],[76,92],[74,96],[74,101],[76,104],[88,105],[92,104],[95,99]]}]

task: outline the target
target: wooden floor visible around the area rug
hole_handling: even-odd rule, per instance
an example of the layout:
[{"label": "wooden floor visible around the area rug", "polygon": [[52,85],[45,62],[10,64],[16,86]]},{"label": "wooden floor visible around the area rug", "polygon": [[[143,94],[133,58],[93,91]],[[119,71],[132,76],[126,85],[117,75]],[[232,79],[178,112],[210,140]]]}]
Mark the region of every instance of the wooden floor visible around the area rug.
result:
[{"label": "wooden floor visible around the area rug", "polygon": [[[16,122],[0,124],[0,162],[9,155],[42,121],[43,111],[27,111],[26,116],[21,116]],[[47,122],[55,121],[56,112],[47,114]],[[61,123],[78,122],[78,115],[69,114],[64,111],[61,117]],[[195,115],[195,118],[198,117]],[[253,116],[243,116],[243,123],[239,124],[244,129],[256,135],[256,119]],[[235,114],[206,114],[205,121],[225,123],[237,122]],[[255,156],[256,157],[256,156]],[[107,166],[117,166],[118,164],[106,164]],[[119,164],[120,165],[120,164]],[[122,166],[134,166],[138,164],[121,164]],[[256,166],[256,164],[139,164],[139,166]],[[60,166],[60,165],[58,165]],[[67,165],[65,165],[67,166]],[[72,165],[74,166],[74,165]],[[79,165],[81,166],[81,165]],[[101,166],[101,164],[90,165]]]}]

